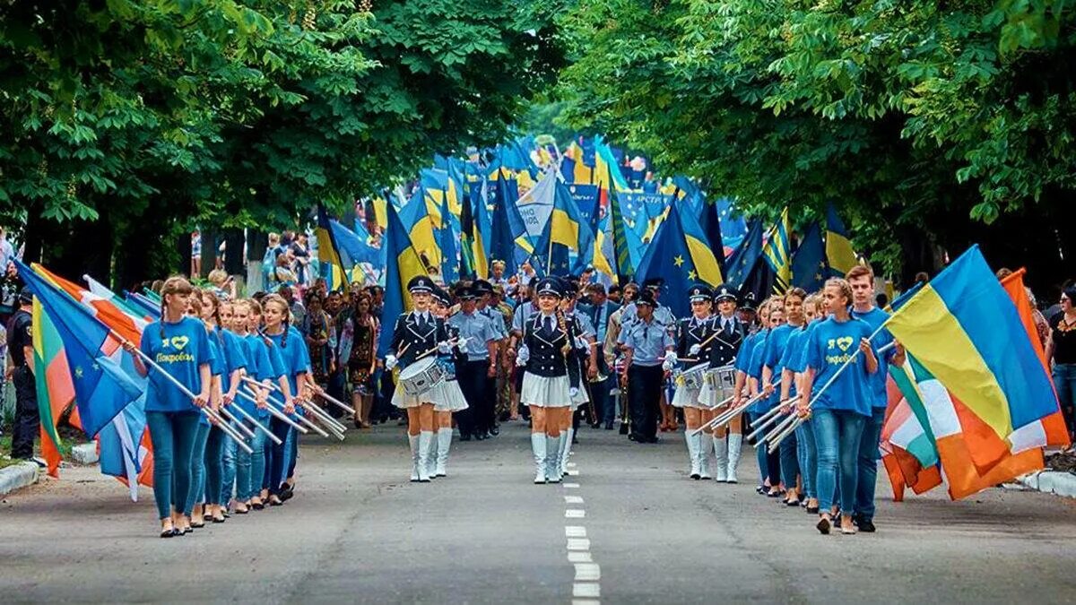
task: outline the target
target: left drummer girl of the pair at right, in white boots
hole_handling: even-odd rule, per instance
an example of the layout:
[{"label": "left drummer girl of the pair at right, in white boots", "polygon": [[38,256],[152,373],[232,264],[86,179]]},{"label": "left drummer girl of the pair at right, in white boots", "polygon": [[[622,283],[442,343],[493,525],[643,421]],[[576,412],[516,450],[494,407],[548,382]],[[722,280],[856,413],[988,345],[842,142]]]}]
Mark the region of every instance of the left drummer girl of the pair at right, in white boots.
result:
[{"label": "left drummer girl of the pair at right, in white boots", "polygon": [[[710,348],[712,347],[710,336],[713,334],[713,325],[710,321],[710,309],[713,304],[710,300],[713,293],[705,285],[696,285],[688,291],[688,297],[691,300],[691,316],[677,322],[676,352],[680,358],[695,360],[688,362],[685,370],[700,370],[709,365],[710,360]],[[698,381],[688,384],[680,376],[676,381],[676,394],[672,395],[672,406],[683,409],[683,438],[688,444],[688,461],[691,463],[690,476],[695,480],[710,478],[710,472],[707,468],[710,428],[706,428],[703,433],[698,433],[697,428],[713,418],[708,409],[708,402],[699,399],[700,371],[697,372],[697,377]]]}]

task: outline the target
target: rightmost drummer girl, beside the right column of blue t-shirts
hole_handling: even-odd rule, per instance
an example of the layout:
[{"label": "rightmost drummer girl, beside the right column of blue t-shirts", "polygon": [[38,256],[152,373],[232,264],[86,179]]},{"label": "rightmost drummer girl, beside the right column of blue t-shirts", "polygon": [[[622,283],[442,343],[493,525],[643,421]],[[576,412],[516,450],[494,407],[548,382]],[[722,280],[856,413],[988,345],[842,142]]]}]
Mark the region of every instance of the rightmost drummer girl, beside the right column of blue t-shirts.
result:
[{"label": "rightmost drummer girl, beside the right column of blue t-shirts", "polygon": [[[748,296],[750,297],[748,302],[753,304],[754,296],[750,293]],[[713,296],[714,304],[724,300],[737,301],[735,287],[722,284],[717,289]],[[706,402],[707,406],[714,407],[727,399],[732,393],[735,384],[735,371],[731,371],[732,364],[736,361],[736,355],[739,354],[744,339],[747,338],[748,326],[737,318],[735,311],[727,318],[717,313],[710,321],[717,336],[713,337],[713,348],[710,350],[708,380],[703,385],[699,398]],[[728,369],[714,371],[718,368]],[[714,431],[712,437],[713,455],[717,459],[717,480],[735,483],[737,481],[736,466],[739,464],[744,434],[730,432],[726,437],[718,437],[718,433]]]}]

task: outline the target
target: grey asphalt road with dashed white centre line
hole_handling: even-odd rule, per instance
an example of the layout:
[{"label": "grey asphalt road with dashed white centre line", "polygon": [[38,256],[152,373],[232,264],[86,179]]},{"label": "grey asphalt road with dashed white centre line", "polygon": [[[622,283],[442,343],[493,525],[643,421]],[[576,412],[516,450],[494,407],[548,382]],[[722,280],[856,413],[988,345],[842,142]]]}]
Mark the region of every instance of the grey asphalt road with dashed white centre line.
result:
[{"label": "grey asphalt road with dashed white centre line", "polygon": [[1074,503],[993,489],[890,502],[873,535],[685,477],[682,439],[581,435],[561,486],[530,483],[521,424],[453,447],[447,479],[408,482],[401,430],[302,446],[296,497],[168,540],[96,469],[0,503],[0,602],[1066,603]]}]

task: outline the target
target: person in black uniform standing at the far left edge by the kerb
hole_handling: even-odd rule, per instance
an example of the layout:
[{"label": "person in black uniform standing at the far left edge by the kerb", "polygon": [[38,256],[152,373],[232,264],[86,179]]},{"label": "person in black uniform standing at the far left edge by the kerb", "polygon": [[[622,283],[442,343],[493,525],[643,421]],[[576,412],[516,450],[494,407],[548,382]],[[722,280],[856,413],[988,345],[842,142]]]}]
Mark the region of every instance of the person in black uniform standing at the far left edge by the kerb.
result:
[{"label": "person in black uniform standing at the far left edge by the kerb", "polygon": [[[24,287],[18,295],[19,305],[29,305],[33,295]],[[29,312],[18,309],[8,320],[8,352],[13,366],[12,382],[15,385],[15,421],[11,436],[11,456],[30,460],[33,458],[33,438],[38,435],[38,392],[33,374],[26,360],[26,347],[33,347],[33,320]],[[43,371],[44,368],[38,368]]]}]

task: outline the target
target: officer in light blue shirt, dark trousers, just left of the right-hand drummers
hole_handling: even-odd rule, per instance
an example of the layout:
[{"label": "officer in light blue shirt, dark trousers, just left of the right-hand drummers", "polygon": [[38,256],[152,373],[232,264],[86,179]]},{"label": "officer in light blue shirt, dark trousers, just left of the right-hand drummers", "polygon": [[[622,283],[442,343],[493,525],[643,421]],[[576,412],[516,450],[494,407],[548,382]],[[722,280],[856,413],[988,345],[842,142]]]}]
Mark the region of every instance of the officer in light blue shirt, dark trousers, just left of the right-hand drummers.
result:
[{"label": "officer in light blue shirt, dark trousers, just left of the right-hand drummers", "polygon": [[[637,304],[656,307],[654,295],[649,291],[639,294]],[[636,318],[634,322],[623,326],[621,340],[624,348],[632,351],[632,365],[627,369],[627,396],[632,411],[629,438],[655,444],[664,379],[662,362],[676,355],[671,353],[674,340],[666,326],[656,318],[651,318],[649,322]]]}]

